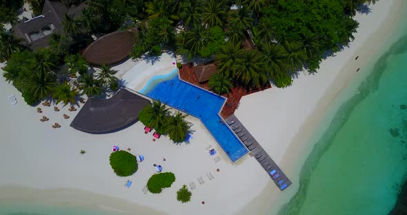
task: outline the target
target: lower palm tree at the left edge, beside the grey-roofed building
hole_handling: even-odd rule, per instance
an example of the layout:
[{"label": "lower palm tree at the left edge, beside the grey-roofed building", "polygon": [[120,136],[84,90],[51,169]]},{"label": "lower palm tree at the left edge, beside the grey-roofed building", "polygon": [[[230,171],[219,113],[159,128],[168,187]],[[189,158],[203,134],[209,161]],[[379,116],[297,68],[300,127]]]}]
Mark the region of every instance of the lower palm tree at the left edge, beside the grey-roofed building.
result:
[{"label": "lower palm tree at the left edge, beside the grey-roofed building", "polygon": [[0,30],[0,62],[10,59],[11,54],[24,49],[20,44],[21,39],[17,39],[12,34],[8,34],[6,30]]}]

